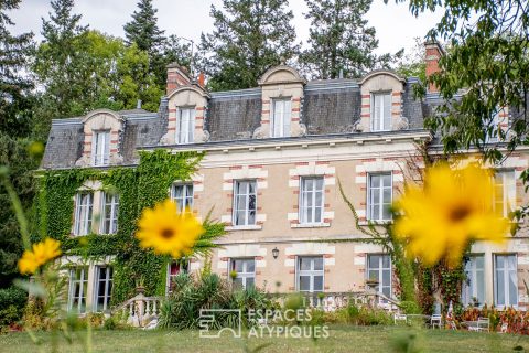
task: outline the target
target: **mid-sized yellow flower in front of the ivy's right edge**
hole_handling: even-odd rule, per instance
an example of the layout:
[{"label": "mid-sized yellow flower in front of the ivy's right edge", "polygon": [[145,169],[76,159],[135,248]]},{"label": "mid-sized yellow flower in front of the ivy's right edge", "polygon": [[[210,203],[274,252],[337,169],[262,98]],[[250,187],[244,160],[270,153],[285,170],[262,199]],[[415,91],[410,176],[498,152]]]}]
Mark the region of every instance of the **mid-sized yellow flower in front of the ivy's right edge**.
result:
[{"label": "mid-sized yellow flower in front of the ivy's right edge", "polygon": [[144,248],[152,247],[156,254],[180,258],[190,255],[198,237],[205,232],[192,212],[179,213],[176,203],[165,200],[145,208],[138,223],[136,237]]}]

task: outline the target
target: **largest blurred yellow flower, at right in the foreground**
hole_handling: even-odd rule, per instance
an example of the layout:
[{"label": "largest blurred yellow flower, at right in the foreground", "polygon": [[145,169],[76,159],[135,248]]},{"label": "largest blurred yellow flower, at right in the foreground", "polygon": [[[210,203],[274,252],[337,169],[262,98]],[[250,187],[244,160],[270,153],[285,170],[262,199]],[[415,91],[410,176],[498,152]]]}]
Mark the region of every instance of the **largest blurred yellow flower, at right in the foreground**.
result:
[{"label": "largest blurred yellow flower, at right in the foreground", "polygon": [[488,170],[468,165],[452,171],[439,164],[427,171],[423,188],[409,186],[395,203],[402,216],[395,234],[407,240],[407,252],[427,266],[445,259],[461,263],[472,240],[503,242],[509,222],[494,212],[494,181]]}]

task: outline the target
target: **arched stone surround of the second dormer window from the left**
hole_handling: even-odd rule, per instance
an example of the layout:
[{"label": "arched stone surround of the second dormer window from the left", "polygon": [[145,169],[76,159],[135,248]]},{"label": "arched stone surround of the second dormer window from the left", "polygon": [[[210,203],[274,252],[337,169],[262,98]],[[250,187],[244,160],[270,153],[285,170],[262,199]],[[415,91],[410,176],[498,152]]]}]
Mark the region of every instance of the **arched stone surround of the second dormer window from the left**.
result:
[{"label": "arched stone surround of the second dormer window from the left", "polygon": [[204,88],[196,85],[174,89],[168,97],[168,132],[162,137],[160,143],[177,145],[176,130],[179,111],[182,108],[193,107],[195,108],[195,130],[192,143],[202,143],[209,140],[209,132],[204,129],[208,99],[209,95]]}]

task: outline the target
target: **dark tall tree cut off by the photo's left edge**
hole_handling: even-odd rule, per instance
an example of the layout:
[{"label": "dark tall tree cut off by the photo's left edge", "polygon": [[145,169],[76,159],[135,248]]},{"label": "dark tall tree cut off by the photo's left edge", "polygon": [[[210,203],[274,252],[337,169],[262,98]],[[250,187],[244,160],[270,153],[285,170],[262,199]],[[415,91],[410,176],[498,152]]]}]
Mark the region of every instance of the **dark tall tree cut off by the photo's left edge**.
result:
[{"label": "dark tall tree cut off by the photo's left edge", "polygon": [[[13,22],[7,11],[18,9],[19,3],[20,0],[0,0],[0,165],[3,167],[2,173],[9,173],[22,206],[29,210],[33,199],[31,171],[37,163],[29,157],[28,142],[22,139],[30,130],[33,85],[21,72],[28,69],[33,34],[17,36],[10,32],[9,26],[13,25]],[[22,242],[2,183],[0,204],[0,288],[3,288],[17,276]]]}]

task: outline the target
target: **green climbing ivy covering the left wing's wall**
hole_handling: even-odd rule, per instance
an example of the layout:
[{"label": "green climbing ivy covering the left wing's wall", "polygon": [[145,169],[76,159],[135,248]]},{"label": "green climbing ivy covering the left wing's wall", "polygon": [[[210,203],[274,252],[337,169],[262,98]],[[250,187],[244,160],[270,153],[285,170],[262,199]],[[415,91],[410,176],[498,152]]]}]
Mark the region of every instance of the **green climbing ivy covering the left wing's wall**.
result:
[{"label": "green climbing ivy covering the left wing's wall", "polygon": [[[65,255],[85,258],[114,255],[112,303],[120,303],[133,296],[140,282],[148,296],[163,295],[170,258],[139,246],[133,236],[137,222],[143,208],[168,197],[174,181],[190,180],[201,159],[202,154],[196,152],[171,153],[159,149],[140,152],[137,167],[42,172],[37,175],[40,192],[35,199],[37,224],[34,226],[33,240],[46,236],[61,240]],[[89,180],[99,181],[104,190],[119,194],[119,226],[116,234],[76,237],[71,234],[75,194]],[[196,245],[198,253],[207,253],[213,240],[224,234],[224,225],[209,221],[209,217],[204,226],[206,233]]]}]

